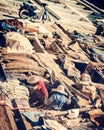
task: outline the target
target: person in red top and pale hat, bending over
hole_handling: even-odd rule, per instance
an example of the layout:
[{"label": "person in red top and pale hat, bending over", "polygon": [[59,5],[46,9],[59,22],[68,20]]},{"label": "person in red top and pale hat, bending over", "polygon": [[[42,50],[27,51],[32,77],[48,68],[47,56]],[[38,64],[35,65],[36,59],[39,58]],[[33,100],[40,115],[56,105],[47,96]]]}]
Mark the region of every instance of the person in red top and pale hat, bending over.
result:
[{"label": "person in red top and pale hat, bending over", "polygon": [[42,79],[31,76],[27,79],[27,83],[33,88],[30,89],[30,106],[39,107],[43,105],[48,98],[48,91]]}]

